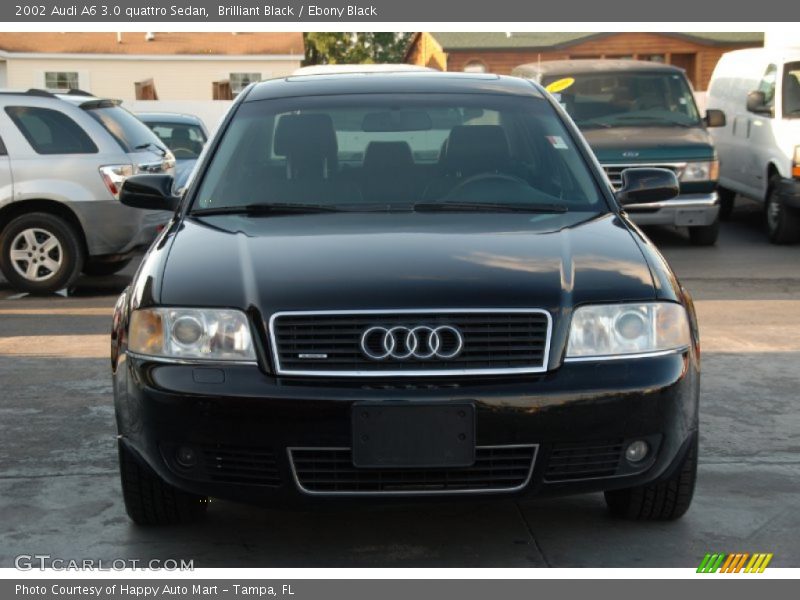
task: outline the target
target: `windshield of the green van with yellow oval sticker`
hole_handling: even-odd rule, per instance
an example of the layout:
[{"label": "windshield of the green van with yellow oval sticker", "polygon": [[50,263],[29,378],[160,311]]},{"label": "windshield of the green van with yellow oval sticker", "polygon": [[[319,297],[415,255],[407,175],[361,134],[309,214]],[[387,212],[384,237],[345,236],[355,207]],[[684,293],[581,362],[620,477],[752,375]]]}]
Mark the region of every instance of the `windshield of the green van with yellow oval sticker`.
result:
[{"label": "windshield of the green van with yellow oval sticker", "polygon": [[554,96],[581,129],[700,125],[692,90],[678,73],[558,75],[542,84],[559,90]]}]

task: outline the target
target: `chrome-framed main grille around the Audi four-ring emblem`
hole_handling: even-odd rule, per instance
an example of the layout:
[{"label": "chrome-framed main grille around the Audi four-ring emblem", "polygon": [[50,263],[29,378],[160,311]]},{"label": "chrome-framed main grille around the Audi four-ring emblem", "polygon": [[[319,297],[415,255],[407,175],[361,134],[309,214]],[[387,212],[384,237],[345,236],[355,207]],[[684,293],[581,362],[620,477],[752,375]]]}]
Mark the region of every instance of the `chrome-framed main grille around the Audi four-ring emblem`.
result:
[{"label": "chrome-framed main grille around the Audi four-ring emblem", "polygon": [[[370,327],[456,328],[453,358],[370,359],[361,336]],[[550,315],[530,310],[284,312],[270,320],[273,358],[283,375],[413,376],[537,373],[547,368]]]}]

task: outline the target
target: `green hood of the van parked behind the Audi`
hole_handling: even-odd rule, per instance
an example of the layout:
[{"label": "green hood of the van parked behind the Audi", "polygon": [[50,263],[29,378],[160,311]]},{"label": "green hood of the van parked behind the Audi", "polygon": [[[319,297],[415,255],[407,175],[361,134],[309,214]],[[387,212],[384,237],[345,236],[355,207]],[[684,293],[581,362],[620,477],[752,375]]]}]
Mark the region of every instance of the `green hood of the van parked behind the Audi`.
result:
[{"label": "green hood of the van parked behind the Audi", "polygon": [[582,133],[602,163],[714,158],[711,136],[702,127],[610,127]]}]

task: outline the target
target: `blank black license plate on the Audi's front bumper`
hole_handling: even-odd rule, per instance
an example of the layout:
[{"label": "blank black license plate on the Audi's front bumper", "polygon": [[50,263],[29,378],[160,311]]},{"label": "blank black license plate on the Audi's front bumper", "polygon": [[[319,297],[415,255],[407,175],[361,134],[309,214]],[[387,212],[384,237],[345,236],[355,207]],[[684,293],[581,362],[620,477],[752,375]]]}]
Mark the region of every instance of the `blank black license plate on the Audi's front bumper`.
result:
[{"label": "blank black license plate on the Audi's front bumper", "polygon": [[475,462],[472,404],[357,403],[352,411],[356,467],[468,467]]}]

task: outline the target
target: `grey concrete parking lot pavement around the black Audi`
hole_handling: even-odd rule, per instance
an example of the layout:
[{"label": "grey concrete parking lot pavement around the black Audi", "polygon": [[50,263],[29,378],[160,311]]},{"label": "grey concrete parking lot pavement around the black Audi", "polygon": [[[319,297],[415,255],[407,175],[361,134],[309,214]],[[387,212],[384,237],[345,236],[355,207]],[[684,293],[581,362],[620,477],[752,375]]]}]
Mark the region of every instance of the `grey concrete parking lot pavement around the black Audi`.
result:
[{"label": "grey concrete parking lot pavement around the black Audi", "polygon": [[206,522],[133,526],[116,471],[108,341],[133,272],[69,298],[0,280],[0,567],[18,554],[183,558],[196,567],[694,567],[773,552],[800,566],[800,247],[740,206],[715,248],[649,233],[694,295],[703,381],[699,482],[675,523],[608,516],[602,495],[278,512],[212,503]]}]

